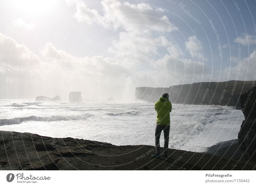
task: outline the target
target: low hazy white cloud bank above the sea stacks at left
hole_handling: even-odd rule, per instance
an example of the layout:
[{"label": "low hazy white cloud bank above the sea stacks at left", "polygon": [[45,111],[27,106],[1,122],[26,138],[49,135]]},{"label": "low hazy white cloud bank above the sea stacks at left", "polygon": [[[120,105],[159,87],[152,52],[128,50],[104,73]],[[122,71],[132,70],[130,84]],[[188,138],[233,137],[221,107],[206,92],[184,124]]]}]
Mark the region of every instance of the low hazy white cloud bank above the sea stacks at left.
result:
[{"label": "low hazy white cloud bank above the sea stacks at left", "polygon": [[[70,91],[82,91],[88,99],[103,94],[105,100],[107,93],[121,98],[125,90],[131,95],[126,81],[133,72],[118,59],[79,58],[56,49],[52,43],[46,43],[41,54],[39,59],[25,45],[0,34],[0,97],[60,95],[67,98]],[[129,86],[133,91],[133,85]]]}]

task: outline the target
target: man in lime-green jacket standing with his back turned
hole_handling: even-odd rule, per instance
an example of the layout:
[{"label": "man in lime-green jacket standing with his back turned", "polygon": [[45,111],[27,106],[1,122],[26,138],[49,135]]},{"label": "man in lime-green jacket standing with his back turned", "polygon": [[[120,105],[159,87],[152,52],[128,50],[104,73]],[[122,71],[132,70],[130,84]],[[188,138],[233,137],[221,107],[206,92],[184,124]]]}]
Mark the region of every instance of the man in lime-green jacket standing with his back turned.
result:
[{"label": "man in lime-green jacket standing with his back turned", "polygon": [[170,112],[172,112],[172,104],[169,101],[169,94],[164,93],[155,103],[155,110],[157,113],[156,119],[156,153],[152,155],[152,158],[160,158],[160,135],[162,130],[164,131],[164,152],[163,157],[167,157],[167,149],[169,145],[169,132],[170,132]]}]

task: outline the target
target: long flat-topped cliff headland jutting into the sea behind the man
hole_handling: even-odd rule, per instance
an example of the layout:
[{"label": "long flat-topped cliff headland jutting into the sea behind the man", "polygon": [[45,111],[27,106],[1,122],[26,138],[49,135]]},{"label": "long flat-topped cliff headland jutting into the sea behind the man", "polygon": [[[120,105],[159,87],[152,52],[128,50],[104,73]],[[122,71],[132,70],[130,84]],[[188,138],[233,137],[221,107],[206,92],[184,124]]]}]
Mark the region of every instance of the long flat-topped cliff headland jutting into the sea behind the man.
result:
[{"label": "long flat-topped cliff headland jutting into the sea behind the man", "polygon": [[240,107],[239,97],[250,89],[252,81],[198,82],[169,88],[137,87],[136,99],[155,102],[164,92],[172,103],[228,105]]}]

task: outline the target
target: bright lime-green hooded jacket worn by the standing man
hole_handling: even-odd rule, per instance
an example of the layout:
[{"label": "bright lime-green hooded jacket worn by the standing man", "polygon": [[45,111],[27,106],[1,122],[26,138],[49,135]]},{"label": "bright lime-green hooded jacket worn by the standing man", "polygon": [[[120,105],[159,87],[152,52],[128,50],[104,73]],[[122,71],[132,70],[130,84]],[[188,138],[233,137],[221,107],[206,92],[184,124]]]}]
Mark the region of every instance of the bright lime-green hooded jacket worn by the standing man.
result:
[{"label": "bright lime-green hooded jacket worn by the standing man", "polygon": [[155,103],[155,110],[157,113],[157,125],[170,125],[170,112],[172,112],[171,102],[164,97],[159,97],[159,100]]}]

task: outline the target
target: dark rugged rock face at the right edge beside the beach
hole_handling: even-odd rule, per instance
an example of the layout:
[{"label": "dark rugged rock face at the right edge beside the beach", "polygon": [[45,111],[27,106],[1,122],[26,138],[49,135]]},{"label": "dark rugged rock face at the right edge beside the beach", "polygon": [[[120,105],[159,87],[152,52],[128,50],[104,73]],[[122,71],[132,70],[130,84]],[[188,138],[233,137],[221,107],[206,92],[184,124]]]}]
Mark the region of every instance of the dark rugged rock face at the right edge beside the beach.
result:
[{"label": "dark rugged rock face at the right edge beside the beach", "polygon": [[238,133],[238,143],[241,145],[244,159],[256,161],[256,87],[241,95],[241,110],[243,121]]}]

